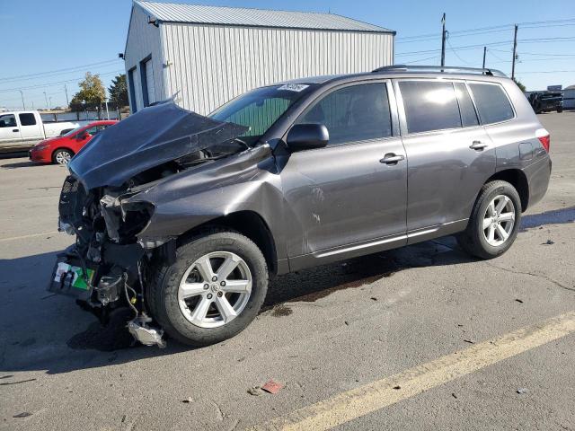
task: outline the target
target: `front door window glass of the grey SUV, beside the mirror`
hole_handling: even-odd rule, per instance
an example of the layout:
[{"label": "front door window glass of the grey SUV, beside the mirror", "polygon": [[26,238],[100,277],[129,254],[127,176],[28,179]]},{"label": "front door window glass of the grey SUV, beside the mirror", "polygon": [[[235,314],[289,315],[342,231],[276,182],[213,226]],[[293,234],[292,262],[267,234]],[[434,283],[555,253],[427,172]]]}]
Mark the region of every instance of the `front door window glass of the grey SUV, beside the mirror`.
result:
[{"label": "front door window glass of the grey SUV, beside the mirror", "polygon": [[385,84],[358,84],[329,93],[297,119],[297,124],[323,124],[329,145],[392,136]]}]

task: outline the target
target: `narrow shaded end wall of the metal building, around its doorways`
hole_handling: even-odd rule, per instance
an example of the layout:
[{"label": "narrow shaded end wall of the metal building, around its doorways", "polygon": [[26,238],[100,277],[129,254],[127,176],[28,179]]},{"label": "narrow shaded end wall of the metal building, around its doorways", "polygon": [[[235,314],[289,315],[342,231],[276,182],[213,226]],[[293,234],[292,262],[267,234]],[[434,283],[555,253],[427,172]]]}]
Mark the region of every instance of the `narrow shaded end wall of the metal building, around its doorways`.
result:
[{"label": "narrow shaded end wall of the metal building, around its doorways", "polygon": [[[152,65],[154,70],[154,92],[155,100],[161,101],[164,97],[164,83],[162,77],[163,72],[163,58],[160,40],[160,29],[152,24],[147,23],[147,15],[139,7],[132,8],[132,16],[129,22],[128,41],[126,43],[126,50],[124,52],[126,76],[128,70],[136,67],[134,79],[134,91],[137,99],[137,109],[144,106],[144,99],[142,96],[142,80],[140,79],[140,62],[148,56],[152,56]],[[128,91],[129,96],[129,91]],[[130,99],[130,107],[134,106],[133,101]]]}]

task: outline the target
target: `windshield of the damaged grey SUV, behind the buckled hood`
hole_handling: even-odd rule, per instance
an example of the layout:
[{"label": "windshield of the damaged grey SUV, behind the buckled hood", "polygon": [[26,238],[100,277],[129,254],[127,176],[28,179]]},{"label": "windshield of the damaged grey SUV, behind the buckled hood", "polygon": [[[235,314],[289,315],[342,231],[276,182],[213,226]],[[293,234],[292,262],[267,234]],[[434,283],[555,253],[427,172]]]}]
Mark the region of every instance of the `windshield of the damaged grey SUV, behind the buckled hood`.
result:
[{"label": "windshield of the damaged grey SUV, behind the buckled hood", "polygon": [[242,140],[247,145],[254,145],[310,87],[307,84],[285,84],[257,88],[228,101],[208,117],[250,128],[242,135]]}]

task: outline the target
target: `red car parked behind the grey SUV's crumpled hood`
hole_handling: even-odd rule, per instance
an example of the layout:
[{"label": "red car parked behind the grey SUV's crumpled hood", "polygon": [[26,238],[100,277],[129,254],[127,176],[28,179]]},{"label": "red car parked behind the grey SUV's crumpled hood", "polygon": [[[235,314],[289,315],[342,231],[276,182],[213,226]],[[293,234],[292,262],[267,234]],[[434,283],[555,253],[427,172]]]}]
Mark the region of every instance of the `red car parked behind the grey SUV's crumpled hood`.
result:
[{"label": "red car parked behind the grey SUV's crumpled hood", "polygon": [[32,146],[30,160],[40,163],[66,164],[96,133],[116,124],[116,120],[93,121],[63,136],[50,137]]}]

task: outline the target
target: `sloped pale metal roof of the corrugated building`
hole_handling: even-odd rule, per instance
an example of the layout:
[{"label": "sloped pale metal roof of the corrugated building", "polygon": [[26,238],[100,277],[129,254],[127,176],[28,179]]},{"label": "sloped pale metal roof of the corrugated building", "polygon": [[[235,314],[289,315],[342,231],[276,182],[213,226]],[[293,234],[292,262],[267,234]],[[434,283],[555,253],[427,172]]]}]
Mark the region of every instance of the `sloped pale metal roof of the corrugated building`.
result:
[{"label": "sloped pale metal roof of the corrugated building", "polygon": [[134,4],[139,5],[146,13],[161,22],[395,33],[395,31],[383,27],[352,20],[335,13],[288,12],[243,7],[142,1],[134,1]]}]

